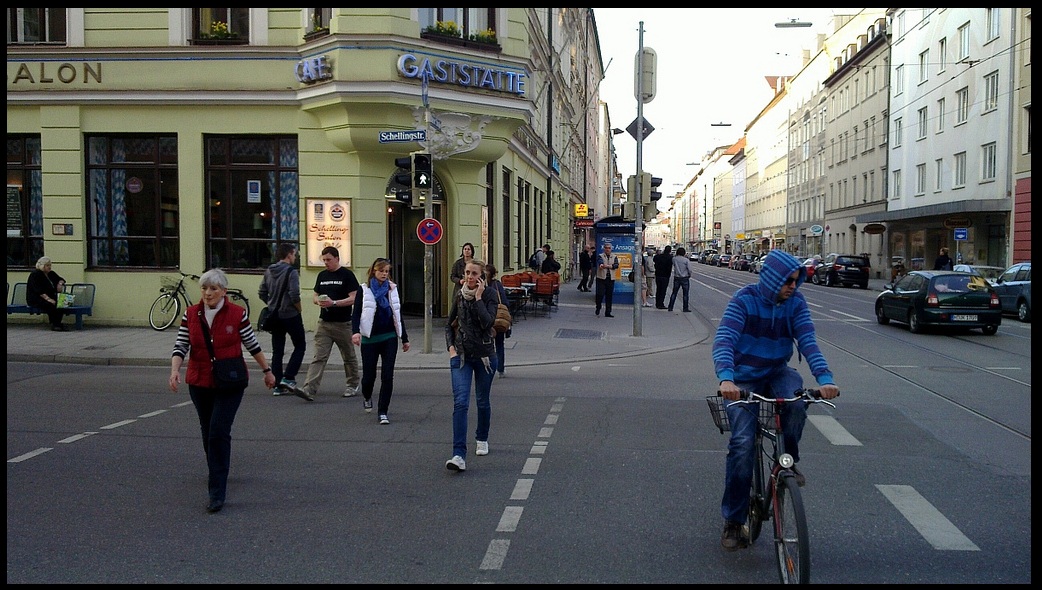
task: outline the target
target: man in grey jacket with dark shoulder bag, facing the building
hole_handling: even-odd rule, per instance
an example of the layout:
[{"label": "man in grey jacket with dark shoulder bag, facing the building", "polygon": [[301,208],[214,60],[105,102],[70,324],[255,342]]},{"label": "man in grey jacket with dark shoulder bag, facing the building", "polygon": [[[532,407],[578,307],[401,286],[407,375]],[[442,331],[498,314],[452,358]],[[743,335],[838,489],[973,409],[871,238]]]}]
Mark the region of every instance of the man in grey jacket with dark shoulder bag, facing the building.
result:
[{"label": "man in grey jacket with dark shoulder bag, facing the building", "polygon": [[[275,373],[275,395],[294,394],[307,399],[304,392],[297,389],[297,371],[304,361],[304,319],[300,315],[300,273],[294,268],[297,262],[297,246],[279,244],[275,249],[277,262],[268,267],[260,280],[257,294],[271,310],[271,367]],[[286,354],[286,336],[293,341],[290,362],[282,367]]]}]

